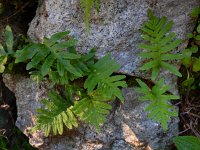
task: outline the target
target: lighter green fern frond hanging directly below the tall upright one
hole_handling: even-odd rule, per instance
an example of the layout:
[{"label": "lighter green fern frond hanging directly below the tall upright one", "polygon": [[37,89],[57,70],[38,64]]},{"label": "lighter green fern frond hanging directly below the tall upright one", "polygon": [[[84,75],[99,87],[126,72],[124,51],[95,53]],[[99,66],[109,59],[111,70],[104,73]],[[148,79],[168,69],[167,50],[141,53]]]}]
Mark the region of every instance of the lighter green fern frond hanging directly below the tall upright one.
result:
[{"label": "lighter green fern frond hanging directly below the tall upright one", "polygon": [[167,122],[170,117],[178,115],[177,110],[170,105],[169,100],[179,99],[175,95],[165,95],[164,93],[170,89],[170,86],[164,85],[164,80],[160,79],[152,89],[144,82],[137,79],[140,88],[137,91],[143,96],[140,96],[142,101],[151,101],[145,111],[149,112],[148,117],[156,122],[160,122],[164,131],[167,130]]}]

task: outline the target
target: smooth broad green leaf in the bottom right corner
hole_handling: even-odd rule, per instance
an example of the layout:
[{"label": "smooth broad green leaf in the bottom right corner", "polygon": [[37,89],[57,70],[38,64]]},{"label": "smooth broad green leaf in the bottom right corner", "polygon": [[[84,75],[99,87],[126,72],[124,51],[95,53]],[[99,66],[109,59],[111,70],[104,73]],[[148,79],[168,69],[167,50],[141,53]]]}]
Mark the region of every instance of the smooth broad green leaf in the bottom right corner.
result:
[{"label": "smooth broad green leaf in the bottom right corner", "polygon": [[199,150],[200,139],[194,136],[177,136],[173,138],[178,150]]}]

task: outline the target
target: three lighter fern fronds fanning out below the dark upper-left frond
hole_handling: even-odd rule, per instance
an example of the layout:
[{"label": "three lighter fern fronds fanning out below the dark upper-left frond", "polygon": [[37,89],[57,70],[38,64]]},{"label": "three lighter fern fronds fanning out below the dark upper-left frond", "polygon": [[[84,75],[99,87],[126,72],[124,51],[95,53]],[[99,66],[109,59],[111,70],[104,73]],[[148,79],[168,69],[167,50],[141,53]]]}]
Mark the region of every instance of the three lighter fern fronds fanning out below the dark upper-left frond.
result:
[{"label": "three lighter fern fronds fanning out below the dark upper-left frond", "polygon": [[[66,85],[65,98],[51,92],[48,95],[49,101],[41,101],[46,107],[38,110],[37,124],[33,131],[42,129],[45,136],[48,136],[52,129],[53,134],[62,134],[63,124],[69,129],[78,126],[76,118],[94,125],[97,131],[100,130],[100,126],[106,121],[106,115],[112,109],[108,102],[115,98],[123,101],[120,88],[127,85],[122,81],[125,76],[112,75],[120,66],[111,59],[110,54],[96,63],[91,59],[93,56],[91,51],[80,58],[81,61],[88,62],[85,73],[87,79],[83,87]],[[78,95],[78,99],[73,95]]]}]

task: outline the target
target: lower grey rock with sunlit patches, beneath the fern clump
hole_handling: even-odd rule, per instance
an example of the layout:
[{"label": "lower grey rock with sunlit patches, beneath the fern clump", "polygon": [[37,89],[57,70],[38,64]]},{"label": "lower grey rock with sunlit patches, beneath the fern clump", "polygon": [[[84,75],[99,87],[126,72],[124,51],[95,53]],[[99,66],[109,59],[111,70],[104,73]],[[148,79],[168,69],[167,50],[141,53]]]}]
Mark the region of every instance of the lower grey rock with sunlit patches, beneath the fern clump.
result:
[{"label": "lower grey rock with sunlit patches, beneath the fern clump", "polygon": [[134,88],[125,88],[125,103],[122,106],[113,104],[100,133],[91,126],[80,124],[77,129],[66,130],[63,136],[44,138],[41,132],[29,133],[28,130],[35,124],[35,110],[42,107],[39,100],[46,97],[46,83],[38,85],[27,77],[8,74],[3,80],[17,99],[16,125],[29,137],[30,143],[41,150],[164,150],[170,149],[172,137],[179,131],[179,119],[173,118],[168,132],[163,133],[159,124],[147,119],[144,112],[147,103],[138,101]]}]

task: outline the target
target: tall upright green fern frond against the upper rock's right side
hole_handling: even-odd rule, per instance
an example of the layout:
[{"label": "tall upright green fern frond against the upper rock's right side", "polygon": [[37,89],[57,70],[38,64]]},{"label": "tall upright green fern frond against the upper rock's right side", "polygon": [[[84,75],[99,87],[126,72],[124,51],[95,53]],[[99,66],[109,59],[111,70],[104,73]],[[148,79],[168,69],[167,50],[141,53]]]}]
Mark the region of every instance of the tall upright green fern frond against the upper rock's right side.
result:
[{"label": "tall upright green fern frond against the upper rock's right side", "polygon": [[141,30],[144,34],[141,36],[147,41],[146,44],[141,44],[139,48],[146,50],[142,52],[140,56],[148,59],[140,69],[152,70],[151,79],[155,80],[159,74],[160,68],[167,69],[171,73],[181,77],[181,73],[176,67],[167,63],[167,60],[181,59],[181,54],[171,54],[171,50],[175,49],[180,43],[180,39],[174,39],[176,34],[169,32],[173,22],[167,22],[165,17],[157,18],[153,15],[151,10],[148,10],[149,21],[144,23]]}]

